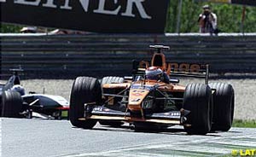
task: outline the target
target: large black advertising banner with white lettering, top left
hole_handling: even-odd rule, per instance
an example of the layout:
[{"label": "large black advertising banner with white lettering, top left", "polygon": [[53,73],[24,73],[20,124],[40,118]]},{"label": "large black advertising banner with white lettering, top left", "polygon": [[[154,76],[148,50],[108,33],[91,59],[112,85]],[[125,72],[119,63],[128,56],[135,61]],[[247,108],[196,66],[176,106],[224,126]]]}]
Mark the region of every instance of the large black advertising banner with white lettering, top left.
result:
[{"label": "large black advertising banner with white lettering, top left", "polygon": [[0,0],[1,22],[87,32],[164,32],[169,0]]}]

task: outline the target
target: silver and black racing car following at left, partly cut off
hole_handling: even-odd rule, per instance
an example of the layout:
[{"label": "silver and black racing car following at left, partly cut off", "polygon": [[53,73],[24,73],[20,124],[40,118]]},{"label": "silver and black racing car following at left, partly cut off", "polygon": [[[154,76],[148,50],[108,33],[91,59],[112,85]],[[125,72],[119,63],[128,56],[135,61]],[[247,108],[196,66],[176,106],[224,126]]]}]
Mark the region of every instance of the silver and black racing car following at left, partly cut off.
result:
[{"label": "silver and black racing car following at left, partly cut off", "polygon": [[41,119],[68,118],[69,103],[62,96],[25,93],[20,85],[18,73],[21,69],[12,69],[13,75],[6,84],[0,84],[0,111],[3,117]]}]

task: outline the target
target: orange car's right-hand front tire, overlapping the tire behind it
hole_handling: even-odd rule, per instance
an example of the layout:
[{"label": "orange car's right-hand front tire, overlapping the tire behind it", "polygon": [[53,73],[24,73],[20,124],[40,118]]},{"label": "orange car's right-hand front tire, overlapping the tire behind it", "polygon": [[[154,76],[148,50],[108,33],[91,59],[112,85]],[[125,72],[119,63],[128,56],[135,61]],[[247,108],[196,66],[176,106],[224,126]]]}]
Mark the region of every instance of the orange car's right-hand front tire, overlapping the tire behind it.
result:
[{"label": "orange car's right-hand front tire, overlapping the tire behind it", "polygon": [[205,135],[212,125],[212,90],[207,84],[189,84],[183,96],[183,108],[189,110],[184,129],[188,134]]}]

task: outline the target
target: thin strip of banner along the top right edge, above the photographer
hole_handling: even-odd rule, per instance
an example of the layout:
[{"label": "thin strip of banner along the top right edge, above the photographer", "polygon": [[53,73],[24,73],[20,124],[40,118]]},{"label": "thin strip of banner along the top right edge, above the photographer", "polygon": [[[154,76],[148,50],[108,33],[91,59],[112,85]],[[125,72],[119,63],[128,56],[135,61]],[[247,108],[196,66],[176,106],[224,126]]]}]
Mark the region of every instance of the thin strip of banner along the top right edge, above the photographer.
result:
[{"label": "thin strip of banner along the top right edge, above the photographer", "polygon": [[211,3],[232,3],[241,5],[256,6],[256,0],[194,0],[195,2],[211,2]]}]

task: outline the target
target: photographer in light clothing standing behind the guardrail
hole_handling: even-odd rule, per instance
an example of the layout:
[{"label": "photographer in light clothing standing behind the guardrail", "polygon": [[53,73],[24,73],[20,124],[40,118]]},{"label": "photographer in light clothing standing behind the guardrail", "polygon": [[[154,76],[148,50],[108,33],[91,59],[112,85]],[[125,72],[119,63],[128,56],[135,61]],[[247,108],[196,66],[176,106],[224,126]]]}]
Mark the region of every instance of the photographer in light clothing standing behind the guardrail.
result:
[{"label": "photographer in light clothing standing behind the guardrail", "polygon": [[211,34],[218,34],[217,15],[211,12],[209,5],[203,6],[203,13],[199,15],[198,22],[201,33],[210,32]]}]

